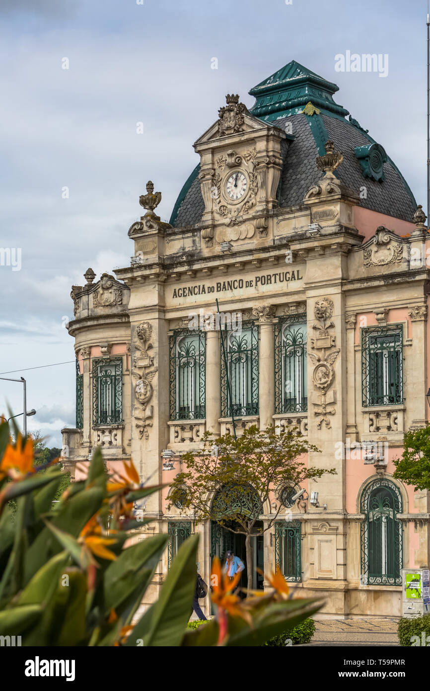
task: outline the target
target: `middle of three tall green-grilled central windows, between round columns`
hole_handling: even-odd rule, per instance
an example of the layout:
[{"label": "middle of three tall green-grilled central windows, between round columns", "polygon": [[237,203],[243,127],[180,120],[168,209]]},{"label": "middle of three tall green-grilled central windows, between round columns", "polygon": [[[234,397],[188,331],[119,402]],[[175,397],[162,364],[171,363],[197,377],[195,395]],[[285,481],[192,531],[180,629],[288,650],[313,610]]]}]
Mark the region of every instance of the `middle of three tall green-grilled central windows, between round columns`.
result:
[{"label": "middle of three tall green-grilled central windows, between round columns", "polygon": [[226,367],[221,350],[221,415],[231,417],[232,410],[234,417],[258,415],[258,325],[245,321],[241,332],[225,331],[221,337],[227,361]]}]

